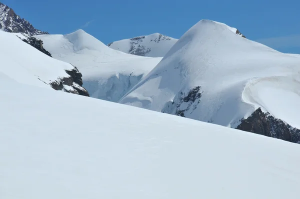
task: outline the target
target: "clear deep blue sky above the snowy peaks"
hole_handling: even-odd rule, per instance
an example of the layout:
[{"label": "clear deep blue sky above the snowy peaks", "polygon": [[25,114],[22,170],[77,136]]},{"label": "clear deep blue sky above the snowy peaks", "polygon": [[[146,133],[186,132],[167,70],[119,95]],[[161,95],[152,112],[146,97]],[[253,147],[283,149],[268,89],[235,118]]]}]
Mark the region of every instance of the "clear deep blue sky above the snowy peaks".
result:
[{"label": "clear deep blue sky above the snowy peaks", "polygon": [[103,43],[154,32],[179,38],[200,19],[236,27],[279,51],[300,53],[298,0],[0,0],[53,34],[84,29]]}]

